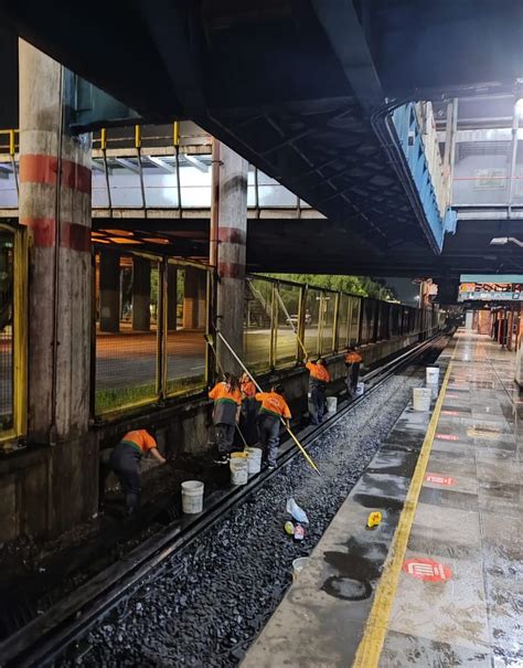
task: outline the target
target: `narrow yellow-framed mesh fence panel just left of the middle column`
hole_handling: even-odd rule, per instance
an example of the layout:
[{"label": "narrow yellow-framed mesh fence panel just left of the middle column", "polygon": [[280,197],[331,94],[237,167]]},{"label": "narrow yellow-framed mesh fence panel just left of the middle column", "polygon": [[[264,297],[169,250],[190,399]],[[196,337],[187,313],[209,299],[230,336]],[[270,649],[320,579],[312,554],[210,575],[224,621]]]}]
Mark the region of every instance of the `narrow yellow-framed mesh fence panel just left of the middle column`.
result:
[{"label": "narrow yellow-framed mesh fence panel just left of the middle column", "polygon": [[167,391],[198,390],[205,384],[207,273],[168,265]]}]

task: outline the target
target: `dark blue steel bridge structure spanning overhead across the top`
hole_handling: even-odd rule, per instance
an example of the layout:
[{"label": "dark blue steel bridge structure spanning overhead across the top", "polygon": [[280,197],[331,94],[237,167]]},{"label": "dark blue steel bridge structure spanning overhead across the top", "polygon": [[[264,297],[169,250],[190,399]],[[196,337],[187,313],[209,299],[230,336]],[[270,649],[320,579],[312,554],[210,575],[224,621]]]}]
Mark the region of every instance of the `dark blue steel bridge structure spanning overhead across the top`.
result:
[{"label": "dark blue steel bridge structure spanning overhead across the top", "polygon": [[[506,91],[521,76],[512,0],[260,0],[248,10],[224,0],[95,0],[88,17],[61,1],[29,9],[2,0],[0,14],[127,105],[128,119],[191,118],[327,216],[292,236],[309,243],[313,232],[331,272],[348,256],[360,271],[440,254],[456,220],[448,170],[434,160],[429,114],[414,102]],[[122,15],[131,28],[116,39]],[[78,129],[121,123],[121,108],[95,89],[76,93]],[[339,245],[349,255],[331,255]]]}]

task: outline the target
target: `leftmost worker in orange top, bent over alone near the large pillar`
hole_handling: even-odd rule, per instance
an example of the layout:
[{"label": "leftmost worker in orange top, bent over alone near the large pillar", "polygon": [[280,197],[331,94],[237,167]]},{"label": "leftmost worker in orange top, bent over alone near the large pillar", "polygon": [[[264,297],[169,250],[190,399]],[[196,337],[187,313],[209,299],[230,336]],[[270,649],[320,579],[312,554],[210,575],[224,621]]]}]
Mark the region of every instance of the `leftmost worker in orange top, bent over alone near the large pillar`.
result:
[{"label": "leftmost worker in orange top, bent over alone near the large pillar", "polygon": [[109,465],[115,471],[126,497],[127,515],[138,508],[140,495],[140,459],[151,454],[158,462],[166,464],[157,442],[146,430],[128,432],[110,454]]}]

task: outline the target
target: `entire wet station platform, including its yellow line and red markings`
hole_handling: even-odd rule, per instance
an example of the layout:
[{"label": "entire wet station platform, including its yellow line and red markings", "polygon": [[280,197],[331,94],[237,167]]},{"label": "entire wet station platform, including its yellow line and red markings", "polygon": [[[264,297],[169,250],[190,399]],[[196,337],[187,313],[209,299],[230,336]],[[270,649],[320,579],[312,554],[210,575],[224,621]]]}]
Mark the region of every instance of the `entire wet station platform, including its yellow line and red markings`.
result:
[{"label": "entire wet station platform, including its yellow line and red markings", "polygon": [[431,414],[403,413],[242,668],[523,665],[514,364],[458,331]]}]

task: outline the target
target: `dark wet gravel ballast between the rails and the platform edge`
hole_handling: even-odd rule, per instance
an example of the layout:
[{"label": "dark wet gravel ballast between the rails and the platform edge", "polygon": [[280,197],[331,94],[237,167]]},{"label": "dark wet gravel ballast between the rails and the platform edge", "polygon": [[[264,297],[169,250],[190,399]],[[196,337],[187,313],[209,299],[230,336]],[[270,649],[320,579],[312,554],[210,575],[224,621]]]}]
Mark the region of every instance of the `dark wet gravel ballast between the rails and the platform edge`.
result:
[{"label": "dark wet gravel ballast between the rails and the platform edge", "polygon": [[[157,569],[93,627],[61,666],[237,666],[419,386],[419,373],[385,381],[302,457]],[[305,540],[284,531],[287,499],[306,510]]]}]

